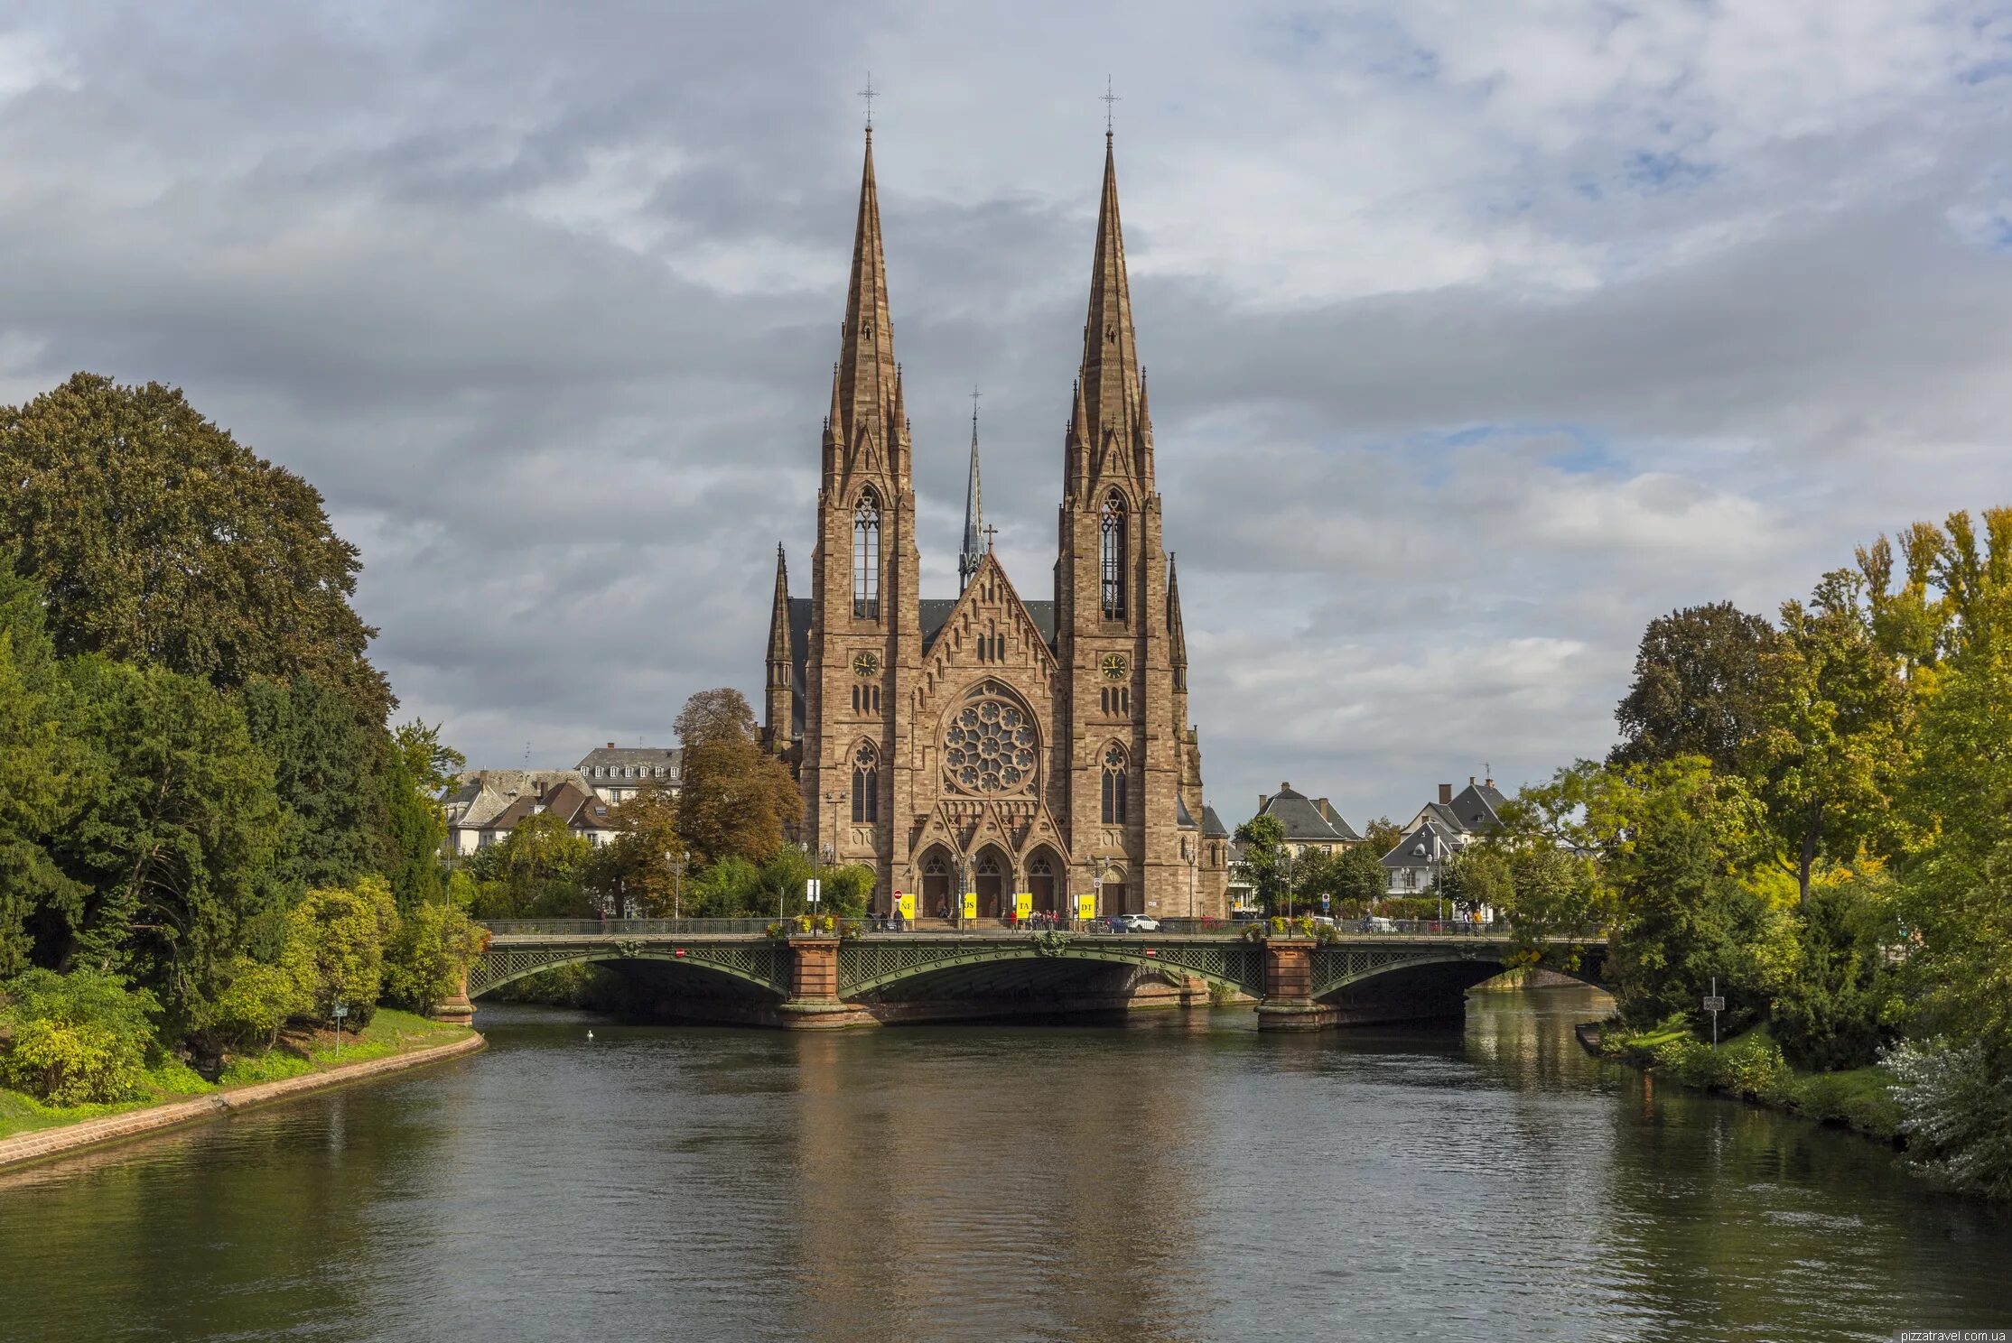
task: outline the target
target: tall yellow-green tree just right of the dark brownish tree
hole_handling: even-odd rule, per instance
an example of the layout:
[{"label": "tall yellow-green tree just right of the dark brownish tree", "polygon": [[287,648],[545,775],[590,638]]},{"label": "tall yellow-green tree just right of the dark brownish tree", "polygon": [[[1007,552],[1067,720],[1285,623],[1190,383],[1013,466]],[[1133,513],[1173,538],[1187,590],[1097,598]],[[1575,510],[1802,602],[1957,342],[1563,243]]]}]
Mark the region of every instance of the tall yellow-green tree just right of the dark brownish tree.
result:
[{"label": "tall yellow-green tree just right of the dark brownish tree", "polygon": [[1819,858],[1853,858],[1885,836],[1905,768],[1907,692],[1859,607],[1863,579],[1825,575],[1805,607],[1781,609],[1763,653],[1760,732],[1744,752],[1777,860],[1809,899]]}]

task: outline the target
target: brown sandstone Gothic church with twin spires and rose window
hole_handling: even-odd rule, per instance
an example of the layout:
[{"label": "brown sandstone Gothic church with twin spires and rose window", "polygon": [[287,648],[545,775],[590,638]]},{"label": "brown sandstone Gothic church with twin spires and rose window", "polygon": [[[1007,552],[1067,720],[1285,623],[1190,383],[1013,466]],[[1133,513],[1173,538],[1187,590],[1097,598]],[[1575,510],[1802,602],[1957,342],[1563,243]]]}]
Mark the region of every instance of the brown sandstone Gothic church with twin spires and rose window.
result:
[{"label": "brown sandstone Gothic church with twin spires and rose window", "polygon": [[813,852],[877,873],[875,909],[980,917],[1032,895],[1068,913],[1221,917],[1229,836],[1201,802],[1187,641],[1161,545],[1117,169],[1062,444],[1052,597],[1026,599],[980,541],[972,426],[962,591],[919,591],[913,444],[893,356],[873,133],[831,380],[809,597],[777,547],[765,738],[803,788]]}]

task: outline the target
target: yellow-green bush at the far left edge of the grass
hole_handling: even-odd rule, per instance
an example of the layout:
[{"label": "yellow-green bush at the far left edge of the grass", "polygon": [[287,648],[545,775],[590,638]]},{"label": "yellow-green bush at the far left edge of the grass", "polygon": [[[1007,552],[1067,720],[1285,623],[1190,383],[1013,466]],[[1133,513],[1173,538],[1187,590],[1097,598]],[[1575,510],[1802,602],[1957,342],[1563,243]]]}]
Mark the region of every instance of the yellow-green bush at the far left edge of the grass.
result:
[{"label": "yellow-green bush at the far left edge of the grass", "polygon": [[119,975],[32,969],[6,983],[0,1080],[56,1106],[127,1100],[157,1051],[161,1003]]}]

